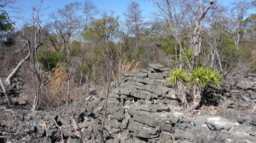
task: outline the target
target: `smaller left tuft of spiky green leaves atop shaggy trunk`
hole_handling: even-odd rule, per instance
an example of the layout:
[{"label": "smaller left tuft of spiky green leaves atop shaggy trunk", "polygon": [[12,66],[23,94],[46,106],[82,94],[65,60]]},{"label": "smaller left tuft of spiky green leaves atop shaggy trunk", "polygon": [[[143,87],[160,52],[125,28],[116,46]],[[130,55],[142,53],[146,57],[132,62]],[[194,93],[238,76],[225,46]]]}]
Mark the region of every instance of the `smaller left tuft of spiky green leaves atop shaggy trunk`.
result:
[{"label": "smaller left tuft of spiky green leaves atop shaggy trunk", "polygon": [[172,86],[176,86],[178,80],[182,80],[184,82],[189,81],[189,78],[188,78],[189,73],[186,70],[182,69],[182,68],[176,67],[175,69],[170,69],[169,76],[170,77],[167,80],[167,83],[172,85]]}]

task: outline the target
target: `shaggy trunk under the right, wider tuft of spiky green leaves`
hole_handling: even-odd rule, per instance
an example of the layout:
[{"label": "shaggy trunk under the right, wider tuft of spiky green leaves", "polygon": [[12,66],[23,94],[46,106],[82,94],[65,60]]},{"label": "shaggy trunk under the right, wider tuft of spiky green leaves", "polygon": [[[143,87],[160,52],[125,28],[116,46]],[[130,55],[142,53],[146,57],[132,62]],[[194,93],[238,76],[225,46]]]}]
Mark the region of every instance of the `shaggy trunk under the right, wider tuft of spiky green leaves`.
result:
[{"label": "shaggy trunk under the right, wider tuft of spiky green leaves", "polygon": [[200,106],[200,103],[202,101],[202,86],[199,85],[197,86],[196,83],[194,83],[194,89],[193,89],[193,105],[191,106],[191,108],[189,109],[190,111],[192,109],[197,109]]}]

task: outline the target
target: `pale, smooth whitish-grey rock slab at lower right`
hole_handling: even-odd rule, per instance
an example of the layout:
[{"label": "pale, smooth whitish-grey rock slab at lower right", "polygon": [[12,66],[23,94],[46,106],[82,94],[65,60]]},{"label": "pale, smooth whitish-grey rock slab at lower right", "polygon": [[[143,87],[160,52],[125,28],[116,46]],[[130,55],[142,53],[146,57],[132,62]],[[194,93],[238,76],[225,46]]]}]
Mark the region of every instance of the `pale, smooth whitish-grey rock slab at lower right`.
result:
[{"label": "pale, smooth whitish-grey rock slab at lower right", "polygon": [[229,130],[234,123],[220,116],[207,117],[206,123],[211,130]]}]

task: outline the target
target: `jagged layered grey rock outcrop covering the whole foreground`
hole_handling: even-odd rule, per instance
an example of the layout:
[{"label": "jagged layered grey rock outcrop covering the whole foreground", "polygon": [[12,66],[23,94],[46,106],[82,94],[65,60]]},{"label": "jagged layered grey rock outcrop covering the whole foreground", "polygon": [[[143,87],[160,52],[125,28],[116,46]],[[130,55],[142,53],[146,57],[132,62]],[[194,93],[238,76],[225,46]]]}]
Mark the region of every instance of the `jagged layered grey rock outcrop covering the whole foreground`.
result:
[{"label": "jagged layered grey rock outcrop covering the whole foreground", "polygon": [[[169,70],[150,67],[112,82],[103,142],[256,142],[255,73],[228,73],[219,89],[204,91],[200,109],[186,112],[166,85]],[[101,142],[106,90],[90,90],[49,112],[4,106],[0,93],[0,142]]]}]

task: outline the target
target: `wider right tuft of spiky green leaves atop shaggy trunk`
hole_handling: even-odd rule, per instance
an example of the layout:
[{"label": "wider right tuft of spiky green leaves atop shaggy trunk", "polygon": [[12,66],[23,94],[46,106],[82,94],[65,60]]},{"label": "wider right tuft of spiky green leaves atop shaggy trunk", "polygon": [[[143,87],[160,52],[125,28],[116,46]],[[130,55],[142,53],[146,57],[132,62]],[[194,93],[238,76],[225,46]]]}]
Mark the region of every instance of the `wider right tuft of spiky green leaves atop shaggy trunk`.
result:
[{"label": "wider right tuft of spiky green leaves atop shaggy trunk", "polygon": [[208,84],[212,83],[215,87],[219,84],[222,76],[220,71],[212,70],[209,67],[197,67],[191,74],[190,80],[193,81],[197,86],[203,88]]}]

